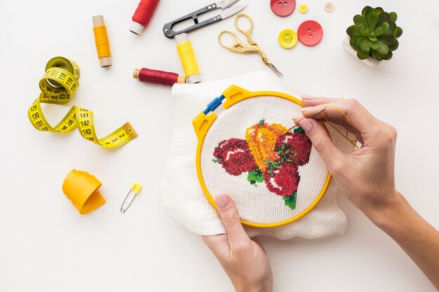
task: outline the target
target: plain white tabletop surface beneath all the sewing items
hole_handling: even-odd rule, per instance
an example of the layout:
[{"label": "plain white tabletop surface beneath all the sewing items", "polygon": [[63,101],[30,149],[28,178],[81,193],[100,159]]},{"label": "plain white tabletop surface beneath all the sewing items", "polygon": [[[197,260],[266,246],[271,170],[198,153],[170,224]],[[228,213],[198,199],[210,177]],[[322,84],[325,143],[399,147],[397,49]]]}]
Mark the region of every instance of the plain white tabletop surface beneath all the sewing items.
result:
[{"label": "plain white tabletop surface beneath all the sewing items", "polygon": [[[287,18],[271,12],[269,1],[251,1],[253,39],[285,78],[292,95],[356,97],[374,116],[399,132],[398,190],[419,214],[439,226],[437,165],[439,125],[439,2],[309,0],[309,12]],[[1,211],[0,291],[231,291],[226,274],[201,238],[172,221],[159,199],[160,180],[173,116],[170,88],[139,83],[136,67],[182,74],[175,43],[161,32],[165,22],[208,4],[205,0],[163,0],[142,36],[128,32],[137,1],[1,1]],[[346,27],[363,6],[396,11],[403,27],[393,60],[365,67],[341,46]],[[113,67],[97,60],[91,17],[104,15]],[[323,41],[284,50],[285,28],[318,20]],[[257,55],[230,53],[217,43],[233,18],[193,32],[203,81],[229,78],[264,67]],[[39,95],[46,62],[62,55],[81,67],[71,104],[92,109],[103,137],[127,120],[139,137],[108,151],[71,134],[38,132],[27,108]],[[68,106],[44,106],[52,125]],[[107,204],[80,216],[62,194],[71,169],[102,181]],[[133,181],[144,186],[121,214]],[[343,197],[348,216],[342,236],[317,240],[264,239],[275,291],[435,291],[426,277],[381,230]]]}]

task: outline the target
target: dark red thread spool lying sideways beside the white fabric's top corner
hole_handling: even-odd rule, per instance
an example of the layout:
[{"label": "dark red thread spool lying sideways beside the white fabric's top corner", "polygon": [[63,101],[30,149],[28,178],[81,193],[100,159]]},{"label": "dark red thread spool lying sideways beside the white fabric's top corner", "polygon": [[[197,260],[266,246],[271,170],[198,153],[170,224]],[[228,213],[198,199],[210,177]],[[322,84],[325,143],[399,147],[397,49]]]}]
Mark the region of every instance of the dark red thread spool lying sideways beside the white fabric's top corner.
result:
[{"label": "dark red thread spool lying sideways beside the white fabric's top corner", "polygon": [[146,83],[173,86],[175,83],[186,83],[186,77],[177,73],[148,68],[134,69],[133,78]]}]

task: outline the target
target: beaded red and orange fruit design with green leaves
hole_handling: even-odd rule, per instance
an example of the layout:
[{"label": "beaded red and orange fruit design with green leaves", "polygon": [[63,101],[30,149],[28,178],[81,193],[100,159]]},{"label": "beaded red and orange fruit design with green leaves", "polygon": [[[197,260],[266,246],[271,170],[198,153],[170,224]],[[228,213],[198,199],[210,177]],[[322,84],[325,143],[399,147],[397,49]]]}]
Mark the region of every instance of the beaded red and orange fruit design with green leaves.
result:
[{"label": "beaded red and orange fruit design with green leaves", "polygon": [[310,154],[311,141],[301,127],[288,132],[281,124],[260,120],[245,130],[245,139],[219,142],[213,162],[234,176],[248,172],[252,185],[264,182],[272,193],[283,197],[286,206],[295,209],[299,166],[309,162]]}]

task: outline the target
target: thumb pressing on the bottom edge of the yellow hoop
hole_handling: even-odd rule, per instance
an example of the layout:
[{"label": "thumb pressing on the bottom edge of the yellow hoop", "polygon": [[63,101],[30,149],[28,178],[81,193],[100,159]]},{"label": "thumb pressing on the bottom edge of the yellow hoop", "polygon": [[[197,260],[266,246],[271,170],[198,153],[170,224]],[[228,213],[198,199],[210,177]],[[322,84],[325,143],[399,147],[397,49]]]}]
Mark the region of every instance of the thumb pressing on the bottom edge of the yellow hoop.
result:
[{"label": "thumb pressing on the bottom edge of the yellow hoop", "polygon": [[219,216],[229,236],[229,244],[233,246],[234,244],[250,239],[247,233],[245,233],[241,220],[239,219],[238,209],[236,209],[236,204],[231,200],[231,197],[229,195],[217,195],[215,201],[217,203]]}]

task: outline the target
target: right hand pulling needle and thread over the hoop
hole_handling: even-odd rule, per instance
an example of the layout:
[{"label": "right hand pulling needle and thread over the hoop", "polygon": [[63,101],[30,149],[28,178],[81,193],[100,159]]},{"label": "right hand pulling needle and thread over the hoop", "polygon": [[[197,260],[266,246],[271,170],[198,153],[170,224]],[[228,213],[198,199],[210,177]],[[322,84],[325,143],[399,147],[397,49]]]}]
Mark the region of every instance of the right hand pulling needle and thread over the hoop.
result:
[{"label": "right hand pulling needle and thread over the hoop", "polygon": [[[302,103],[306,106],[302,116],[293,119],[311,139],[344,195],[370,218],[391,207],[398,200],[394,175],[396,130],[374,118],[355,99],[302,95]],[[342,153],[317,121],[324,120],[323,114],[309,118],[327,105],[337,106],[351,119],[358,132],[358,141],[363,144],[360,150]],[[346,125],[337,109],[328,107],[325,116],[339,125]]]}]

